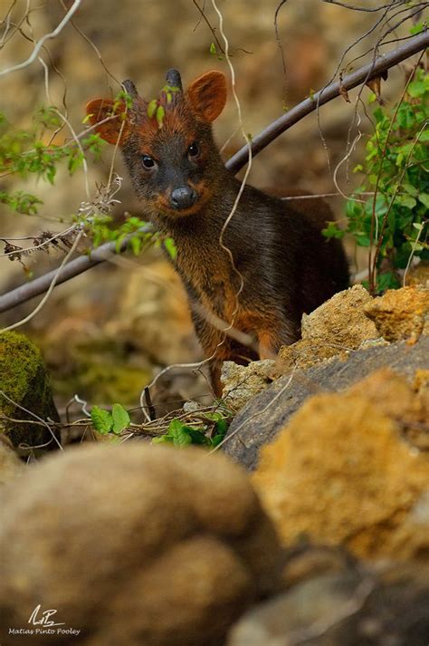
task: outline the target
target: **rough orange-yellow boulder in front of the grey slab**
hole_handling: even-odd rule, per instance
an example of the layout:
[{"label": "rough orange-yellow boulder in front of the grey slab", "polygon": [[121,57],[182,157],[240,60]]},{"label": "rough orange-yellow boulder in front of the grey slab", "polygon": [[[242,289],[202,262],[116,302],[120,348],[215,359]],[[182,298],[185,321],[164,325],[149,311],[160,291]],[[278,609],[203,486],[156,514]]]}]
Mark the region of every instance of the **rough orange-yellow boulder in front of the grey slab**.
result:
[{"label": "rough orange-yellow boulder in front of the grey slab", "polygon": [[429,458],[403,433],[428,419],[426,401],[387,370],[306,401],[253,476],[284,544],[307,535],[370,559],[427,558]]}]

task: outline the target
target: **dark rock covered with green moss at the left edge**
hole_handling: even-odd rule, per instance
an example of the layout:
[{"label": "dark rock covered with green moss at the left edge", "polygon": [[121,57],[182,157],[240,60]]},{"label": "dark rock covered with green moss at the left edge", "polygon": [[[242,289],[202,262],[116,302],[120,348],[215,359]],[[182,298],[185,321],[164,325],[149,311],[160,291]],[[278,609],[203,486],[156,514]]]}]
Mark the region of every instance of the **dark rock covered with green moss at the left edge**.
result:
[{"label": "dark rock covered with green moss at the left edge", "polygon": [[20,455],[58,448],[48,427],[30,421],[48,418],[59,421],[42,353],[24,334],[0,334],[0,432]]}]

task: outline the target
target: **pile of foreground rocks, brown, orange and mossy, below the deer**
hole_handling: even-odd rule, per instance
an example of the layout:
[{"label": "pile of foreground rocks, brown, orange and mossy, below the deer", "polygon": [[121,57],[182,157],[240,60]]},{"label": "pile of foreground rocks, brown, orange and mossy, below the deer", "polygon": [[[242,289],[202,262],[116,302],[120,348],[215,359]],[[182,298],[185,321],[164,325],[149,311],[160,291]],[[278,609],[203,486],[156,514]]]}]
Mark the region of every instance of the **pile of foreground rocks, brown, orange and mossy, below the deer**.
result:
[{"label": "pile of foreground rocks, brown, orange and mossy, below the deer", "polygon": [[[58,644],[425,644],[429,289],[415,275],[378,298],[336,294],[276,362],[225,364],[235,413],[215,455],[136,438],[61,451],[40,352],[5,334],[1,390],[21,406],[6,400],[0,422],[5,643],[41,603],[65,622]],[[25,466],[16,449],[36,443],[57,450]]]}]

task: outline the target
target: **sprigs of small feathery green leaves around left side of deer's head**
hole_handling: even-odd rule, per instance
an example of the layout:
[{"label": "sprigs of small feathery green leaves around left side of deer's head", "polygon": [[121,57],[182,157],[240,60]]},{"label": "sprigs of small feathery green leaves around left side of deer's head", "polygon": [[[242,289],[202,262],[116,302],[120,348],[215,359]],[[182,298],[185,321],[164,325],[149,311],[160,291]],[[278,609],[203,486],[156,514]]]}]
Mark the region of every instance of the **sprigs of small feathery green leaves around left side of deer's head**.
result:
[{"label": "sprigs of small feathery green leaves around left side of deer's head", "polygon": [[[167,102],[172,101],[172,94],[177,88],[165,86],[162,92],[166,93]],[[132,98],[121,90],[115,97],[113,111],[120,105],[125,105],[126,110],[132,105]],[[157,111],[159,126],[162,126],[163,115]],[[83,120],[87,123],[89,117]],[[54,184],[60,166],[65,166],[72,175],[82,169],[84,159],[98,161],[105,145],[100,134],[89,130],[88,133],[66,140],[61,145],[53,143],[60,134],[65,123],[61,113],[54,106],[42,106],[33,113],[32,125],[27,129],[16,129],[7,120],[5,114],[0,112],[0,175],[5,178],[27,179],[35,176],[38,179]],[[120,188],[120,183],[119,183]],[[113,191],[114,195],[117,190]],[[111,210],[119,200],[112,199],[105,187],[99,188],[99,195],[93,203],[81,205],[78,216],[73,217],[77,229],[84,228],[86,234],[92,238],[92,246],[97,247],[105,242],[116,242],[116,247],[122,246],[125,239],[129,249],[136,255],[149,245],[163,245],[174,260],[176,246],[174,241],[158,232],[150,232],[147,222],[139,217],[128,217],[123,223],[117,224],[111,216]],[[4,204],[15,213],[29,216],[39,215],[39,207],[43,201],[32,193],[19,190],[10,191],[5,188],[0,190],[0,204]],[[83,208],[82,208],[83,206]],[[51,234],[50,234],[51,236]],[[37,243],[35,243],[37,244]],[[52,245],[55,244],[52,242]],[[16,246],[16,254],[9,256],[11,260],[21,260],[25,249]],[[41,246],[47,251],[47,245]],[[23,252],[20,254],[20,252]]]}]

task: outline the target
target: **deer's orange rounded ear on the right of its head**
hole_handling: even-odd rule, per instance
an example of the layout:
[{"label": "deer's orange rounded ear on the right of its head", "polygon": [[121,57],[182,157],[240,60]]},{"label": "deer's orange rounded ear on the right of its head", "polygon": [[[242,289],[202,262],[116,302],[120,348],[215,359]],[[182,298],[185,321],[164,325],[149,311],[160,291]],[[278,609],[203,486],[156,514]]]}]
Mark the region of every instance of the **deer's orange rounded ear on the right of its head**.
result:
[{"label": "deer's orange rounded ear on the right of its head", "polygon": [[187,89],[188,99],[205,121],[215,121],[226,103],[226,79],[223,72],[206,72]]}]

